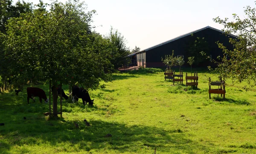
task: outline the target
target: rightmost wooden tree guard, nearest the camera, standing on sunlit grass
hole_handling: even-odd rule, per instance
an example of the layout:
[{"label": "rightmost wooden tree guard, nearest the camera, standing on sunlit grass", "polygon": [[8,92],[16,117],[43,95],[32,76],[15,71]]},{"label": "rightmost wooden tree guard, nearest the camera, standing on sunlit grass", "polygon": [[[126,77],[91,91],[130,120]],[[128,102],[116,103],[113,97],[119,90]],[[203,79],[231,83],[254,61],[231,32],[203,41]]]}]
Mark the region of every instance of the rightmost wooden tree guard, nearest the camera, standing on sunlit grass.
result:
[{"label": "rightmost wooden tree guard, nearest the camera, standing on sunlit grass", "polygon": [[[218,89],[211,89],[211,86],[218,86]],[[209,78],[209,98],[211,98],[211,94],[223,94],[223,98],[225,98],[225,81],[216,81],[211,82],[211,78]]]}]

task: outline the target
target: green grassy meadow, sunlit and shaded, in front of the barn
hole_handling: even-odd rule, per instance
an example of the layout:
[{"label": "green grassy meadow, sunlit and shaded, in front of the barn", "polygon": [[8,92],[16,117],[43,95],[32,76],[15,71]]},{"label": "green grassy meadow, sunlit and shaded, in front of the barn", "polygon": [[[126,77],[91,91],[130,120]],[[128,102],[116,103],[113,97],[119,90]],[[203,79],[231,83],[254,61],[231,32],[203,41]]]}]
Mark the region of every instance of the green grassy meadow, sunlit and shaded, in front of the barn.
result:
[{"label": "green grassy meadow, sunlit and shaded, in front of the barn", "polygon": [[[256,88],[246,92],[245,83],[236,84],[226,87],[226,99],[218,94],[209,99],[208,78],[217,78],[207,71],[199,71],[198,76],[195,90],[173,86],[163,72],[116,73],[105,89],[89,91],[93,106],[84,106],[81,99],[75,104],[64,100],[63,118],[58,120],[47,120],[43,113],[49,111],[49,104],[39,103],[39,98],[27,104],[26,88],[18,96],[4,92],[0,153],[256,153]],[[48,84],[34,87],[49,96]],[[67,86],[63,89],[68,93]],[[84,118],[92,126],[86,126]]]}]

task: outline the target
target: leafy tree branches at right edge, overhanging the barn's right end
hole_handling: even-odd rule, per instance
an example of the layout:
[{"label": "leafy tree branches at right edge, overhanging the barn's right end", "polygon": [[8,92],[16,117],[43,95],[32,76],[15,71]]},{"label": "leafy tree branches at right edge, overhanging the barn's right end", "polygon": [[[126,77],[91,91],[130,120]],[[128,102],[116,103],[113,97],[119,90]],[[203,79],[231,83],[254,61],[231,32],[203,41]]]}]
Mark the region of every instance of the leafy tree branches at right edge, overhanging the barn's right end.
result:
[{"label": "leafy tree branches at right edge, overhanging the barn's right end", "polygon": [[213,19],[224,25],[223,30],[227,34],[233,33],[238,36],[237,39],[230,39],[230,43],[234,46],[233,50],[228,50],[218,43],[219,48],[223,50],[223,57],[219,57],[221,62],[217,63],[215,72],[224,79],[231,78],[233,84],[245,80],[250,87],[253,87],[256,85],[256,8],[247,6],[244,13],[247,17],[243,20],[237,14],[233,14],[235,21],[219,17]]}]

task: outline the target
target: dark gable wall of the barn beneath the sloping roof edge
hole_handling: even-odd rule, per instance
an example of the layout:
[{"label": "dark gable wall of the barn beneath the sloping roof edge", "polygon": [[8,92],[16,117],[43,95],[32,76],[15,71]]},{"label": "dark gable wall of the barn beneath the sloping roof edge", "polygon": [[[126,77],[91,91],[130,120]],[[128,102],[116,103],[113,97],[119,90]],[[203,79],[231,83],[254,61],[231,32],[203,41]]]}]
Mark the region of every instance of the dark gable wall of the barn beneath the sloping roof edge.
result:
[{"label": "dark gable wall of the barn beneath the sloping roof edge", "polygon": [[[161,60],[161,57],[164,58],[165,55],[172,55],[172,50],[174,50],[174,56],[184,55],[184,60],[187,62],[188,56],[186,53],[188,52],[189,45],[192,42],[195,42],[197,37],[203,38],[209,44],[209,52],[212,55],[213,59],[216,59],[217,56],[222,54],[222,50],[218,48],[216,44],[217,41],[223,43],[227,48],[232,49],[232,45],[229,43],[229,37],[225,36],[225,34],[215,31],[213,29],[207,28],[202,31],[198,31],[194,33],[193,36],[189,35],[180,39],[177,39],[173,42],[169,42],[165,45],[161,45],[159,47],[153,48],[151,50],[146,51],[146,62],[147,67],[162,67],[164,64]],[[199,51],[201,52],[201,51]],[[202,65],[206,67],[205,65]],[[207,65],[208,66],[208,65]]]}]

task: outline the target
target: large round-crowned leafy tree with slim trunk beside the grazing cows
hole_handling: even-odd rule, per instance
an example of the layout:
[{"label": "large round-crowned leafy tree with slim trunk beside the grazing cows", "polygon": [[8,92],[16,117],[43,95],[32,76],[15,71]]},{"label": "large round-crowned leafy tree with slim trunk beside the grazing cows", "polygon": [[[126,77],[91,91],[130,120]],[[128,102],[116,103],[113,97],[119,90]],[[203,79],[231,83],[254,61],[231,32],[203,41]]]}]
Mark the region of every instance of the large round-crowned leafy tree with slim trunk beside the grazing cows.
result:
[{"label": "large round-crowned leafy tree with slim trunk beside the grazing cows", "polygon": [[96,89],[111,81],[110,48],[90,31],[92,15],[77,0],[42,2],[32,12],[11,18],[7,25],[9,69],[15,86],[29,80],[52,81],[53,115],[57,116],[57,86],[79,82]]}]

